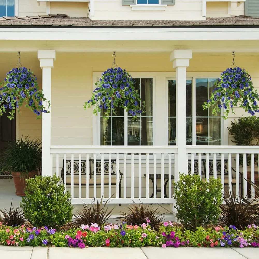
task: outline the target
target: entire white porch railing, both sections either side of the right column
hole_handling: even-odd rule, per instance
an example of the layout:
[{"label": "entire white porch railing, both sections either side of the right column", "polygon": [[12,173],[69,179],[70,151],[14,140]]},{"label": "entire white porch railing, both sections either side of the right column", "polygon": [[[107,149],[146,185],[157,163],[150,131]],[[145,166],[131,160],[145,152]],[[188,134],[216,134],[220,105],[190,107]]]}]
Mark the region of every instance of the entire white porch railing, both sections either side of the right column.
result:
[{"label": "entire white porch railing, both sections either side of the right column", "polygon": [[246,179],[258,182],[259,146],[187,146],[178,160],[177,146],[51,146],[53,173],[71,192],[72,203],[93,198],[110,203],[174,204],[178,162],[208,181],[220,178],[222,194],[255,197]]}]

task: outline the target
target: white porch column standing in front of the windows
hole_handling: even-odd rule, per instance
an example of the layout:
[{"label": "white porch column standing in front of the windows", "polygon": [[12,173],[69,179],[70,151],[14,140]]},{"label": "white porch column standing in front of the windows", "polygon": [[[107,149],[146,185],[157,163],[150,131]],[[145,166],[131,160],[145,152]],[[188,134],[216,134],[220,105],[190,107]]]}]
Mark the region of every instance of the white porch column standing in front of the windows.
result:
[{"label": "white porch column standing in front of the windows", "polygon": [[178,181],[178,172],[187,174],[186,154],[186,67],[192,58],[190,49],[176,49],[170,55],[170,61],[176,68],[176,145],[178,155],[175,161],[175,181]]}]

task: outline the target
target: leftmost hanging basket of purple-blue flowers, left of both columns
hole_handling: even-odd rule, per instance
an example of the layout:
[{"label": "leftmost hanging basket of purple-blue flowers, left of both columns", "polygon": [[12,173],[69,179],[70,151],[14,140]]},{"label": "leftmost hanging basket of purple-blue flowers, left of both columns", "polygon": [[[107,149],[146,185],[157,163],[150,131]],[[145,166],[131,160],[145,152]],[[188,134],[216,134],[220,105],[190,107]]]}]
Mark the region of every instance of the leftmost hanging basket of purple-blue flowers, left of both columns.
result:
[{"label": "leftmost hanging basket of purple-blue flowers, left of both columns", "polygon": [[[0,88],[0,116],[10,109],[10,120],[14,118],[15,111],[20,109],[25,102],[28,107],[40,118],[42,112],[49,112],[42,104],[46,101],[42,90],[39,90],[37,77],[25,67],[13,68],[6,74],[6,78],[1,83]],[[50,102],[47,102],[48,108]]]}]

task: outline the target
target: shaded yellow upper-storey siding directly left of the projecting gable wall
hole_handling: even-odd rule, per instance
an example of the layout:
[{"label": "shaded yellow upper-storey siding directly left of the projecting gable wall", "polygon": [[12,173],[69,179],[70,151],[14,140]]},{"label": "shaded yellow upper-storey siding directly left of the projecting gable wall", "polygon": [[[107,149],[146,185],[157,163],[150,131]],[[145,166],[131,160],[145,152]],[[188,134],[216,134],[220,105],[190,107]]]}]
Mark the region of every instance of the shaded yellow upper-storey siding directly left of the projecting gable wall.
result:
[{"label": "shaded yellow upper-storey siding directly left of the projecting gable wall", "polygon": [[87,17],[88,3],[50,2],[50,14],[65,13],[70,17]]}]

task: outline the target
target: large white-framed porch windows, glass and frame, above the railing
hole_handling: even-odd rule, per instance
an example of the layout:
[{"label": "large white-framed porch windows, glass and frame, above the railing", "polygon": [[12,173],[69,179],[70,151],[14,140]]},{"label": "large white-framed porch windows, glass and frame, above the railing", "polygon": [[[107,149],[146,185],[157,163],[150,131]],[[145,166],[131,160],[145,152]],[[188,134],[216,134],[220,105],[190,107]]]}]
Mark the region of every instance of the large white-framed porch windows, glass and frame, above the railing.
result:
[{"label": "large white-framed porch windows, glass and frame, above the railing", "polygon": [[[93,72],[93,89],[94,85],[98,81],[98,77],[101,76],[101,72]],[[133,78],[143,79],[143,82],[147,79],[153,79],[153,115],[141,114],[138,121],[131,122],[130,118],[126,114],[126,111],[117,112],[110,121],[109,139],[106,138],[107,143],[105,145],[112,145],[113,142],[117,145],[175,145],[175,112],[169,111],[168,98],[170,96],[170,90],[168,92],[168,83],[171,86],[175,85],[175,72],[131,72]],[[218,116],[212,116],[210,110],[204,110],[206,114],[200,114],[203,102],[208,99],[208,94],[213,90],[213,81],[220,76],[220,72],[187,72],[186,82],[186,120],[187,120],[187,145],[227,145],[228,143],[228,131],[227,122],[221,118],[222,114]],[[197,87],[196,87],[197,81]],[[197,89],[199,85],[203,85],[202,94]],[[197,89],[196,89],[197,88]],[[173,93],[172,91],[171,93]],[[169,93],[169,96],[168,96]],[[143,98],[143,96],[141,96]],[[149,98],[149,100],[151,100]],[[172,100],[172,105],[175,105],[175,101]],[[147,99],[146,99],[146,111]],[[102,134],[105,131],[105,127],[101,127],[102,115],[93,116],[93,145],[102,145],[101,143],[101,130]],[[149,132],[146,139],[141,137],[141,129],[145,123],[145,131]],[[111,122],[112,121],[112,122]],[[123,121],[123,124],[122,124]],[[107,126],[106,124],[104,126]],[[142,123],[142,125],[141,125]],[[111,124],[113,126],[111,126]],[[117,126],[123,126],[122,130],[118,130]],[[150,126],[152,125],[152,127]],[[200,126],[202,125],[202,126]],[[111,131],[113,131],[111,133]],[[152,132],[153,131],[153,132]],[[106,130],[108,133],[108,130]],[[123,137],[122,137],[123,136]],[[124,136],[127,136],[124,138]],[[130,136],[130,137],[129,137]],[[142,134],[143,136],[143,134]],[[152,136],[152,137],[151,137]],[[213,140],[214,139],[214,140]],[[142,141],[142,143],[141,143]],[[145,143],[145,144],[144,144]]]}]

